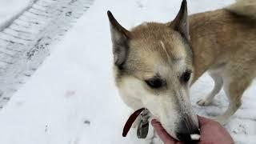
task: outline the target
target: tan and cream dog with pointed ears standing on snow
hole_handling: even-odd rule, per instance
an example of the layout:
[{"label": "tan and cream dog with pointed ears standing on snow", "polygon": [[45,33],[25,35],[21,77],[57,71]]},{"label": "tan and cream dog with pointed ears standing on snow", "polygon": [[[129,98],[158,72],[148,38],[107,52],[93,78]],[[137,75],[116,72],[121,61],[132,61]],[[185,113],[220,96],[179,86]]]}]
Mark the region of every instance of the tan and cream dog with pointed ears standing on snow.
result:
[{"label": "tan and cream dog with pointed ears standing on snow", "polygon": [[108,11],[114,74],[122,100],[146,107],[178,140],[198,133],[190,86],[206,71],[214,90],[198,101],[207,106],[224,87],[229,106],[214,118],[225,123],[241,106],[256,76],[256,1],[238,0],[221,10],[188,16],[186,0],[172,22],[145,22],[126,30]]}]

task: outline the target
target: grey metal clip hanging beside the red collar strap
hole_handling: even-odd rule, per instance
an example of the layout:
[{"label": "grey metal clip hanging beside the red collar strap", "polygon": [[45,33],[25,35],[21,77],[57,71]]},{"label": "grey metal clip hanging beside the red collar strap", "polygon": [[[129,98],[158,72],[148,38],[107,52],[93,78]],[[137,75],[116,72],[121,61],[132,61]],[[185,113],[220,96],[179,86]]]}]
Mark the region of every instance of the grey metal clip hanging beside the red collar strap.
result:
[{"label": "grey metal clip hanging beside the red collar strap", "polygon": [[149,118],[150,118],[150,112],[149,110],[145,109],[142,111],[141,114],[141,121],[138,124],[138,129],[137,129],[137,137],[138,138],[146,138],[148,132],[149,132]]}]

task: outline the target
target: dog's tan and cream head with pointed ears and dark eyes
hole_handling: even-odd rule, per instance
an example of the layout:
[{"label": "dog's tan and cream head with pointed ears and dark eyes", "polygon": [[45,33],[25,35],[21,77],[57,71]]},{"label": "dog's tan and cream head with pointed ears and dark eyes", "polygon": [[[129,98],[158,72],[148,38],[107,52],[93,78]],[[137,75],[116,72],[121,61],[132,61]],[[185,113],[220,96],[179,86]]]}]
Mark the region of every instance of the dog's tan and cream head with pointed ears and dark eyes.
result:
[{"label": "dog's tan and cream head with pointed ears and dark eyes", "polygon": [[122,99],[133,109],[146,107],[166,131],[180,140],[198,133],[190,106],[192,50],[186,1],[173,22],[123,28],[108,11],[114,72]]}]

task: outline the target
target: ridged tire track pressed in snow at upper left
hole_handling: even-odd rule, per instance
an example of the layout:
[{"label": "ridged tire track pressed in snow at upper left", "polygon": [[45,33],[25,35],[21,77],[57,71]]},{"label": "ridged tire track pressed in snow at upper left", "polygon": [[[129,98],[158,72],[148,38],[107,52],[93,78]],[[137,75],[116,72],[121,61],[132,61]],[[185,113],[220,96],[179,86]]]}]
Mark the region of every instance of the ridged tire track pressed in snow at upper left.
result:
[{"label": "ridged tire track pressed in snow at upper left", "polygon": [[34,0],[0,26],[0,109],[94,0]]}]

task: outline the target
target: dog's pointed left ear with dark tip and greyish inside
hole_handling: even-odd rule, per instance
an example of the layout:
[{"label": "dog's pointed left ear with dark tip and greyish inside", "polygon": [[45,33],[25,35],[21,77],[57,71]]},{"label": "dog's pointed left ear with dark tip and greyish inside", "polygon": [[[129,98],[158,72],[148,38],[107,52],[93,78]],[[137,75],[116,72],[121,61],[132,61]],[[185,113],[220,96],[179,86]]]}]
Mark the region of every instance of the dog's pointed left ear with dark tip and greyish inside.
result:
[{"label": "dog's pointed left ear with dark tip and greyish inside", "polygon": [[122,27],[110,11],[107,11],[110,20],[111,39],[113,43],[114,64],[119,68],[126,61],[130,32]]}]

